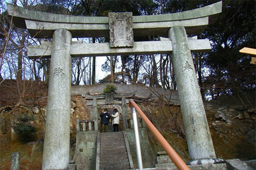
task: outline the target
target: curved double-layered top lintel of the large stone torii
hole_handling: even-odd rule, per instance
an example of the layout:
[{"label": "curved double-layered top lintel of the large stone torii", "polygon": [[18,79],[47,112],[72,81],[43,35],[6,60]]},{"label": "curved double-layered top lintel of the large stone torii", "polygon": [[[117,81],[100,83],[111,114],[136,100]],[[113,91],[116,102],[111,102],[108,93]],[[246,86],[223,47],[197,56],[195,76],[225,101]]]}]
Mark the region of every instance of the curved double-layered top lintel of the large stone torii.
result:
[{"label": "curved double-layered top lintel of the large stone torii", "polygon": [[[72,37],[109,37],[109,17],[71,16],[27,10],[7,4],[17,27],[26,28],[36,38],[52,38],[57,29],[69,30]],[[222,1],[199,9],[162,15],[133,16],[134,36],[167,35],[172,26],[184,26],[188,34],[201,33],[221,13]],[[40,31],[39,31],[40,30]]]}]

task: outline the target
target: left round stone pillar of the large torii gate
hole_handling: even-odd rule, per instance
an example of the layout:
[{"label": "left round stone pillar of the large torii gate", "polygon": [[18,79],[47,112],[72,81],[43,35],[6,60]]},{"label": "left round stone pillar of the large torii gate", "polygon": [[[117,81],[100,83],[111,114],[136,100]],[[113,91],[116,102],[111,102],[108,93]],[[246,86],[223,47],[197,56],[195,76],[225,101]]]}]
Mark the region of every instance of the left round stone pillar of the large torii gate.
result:
[{"label": "left round stone pillar of the large torii gate", "polygon": [[53,32],[42,170],[69,169],[71,39],[68,30]]}]

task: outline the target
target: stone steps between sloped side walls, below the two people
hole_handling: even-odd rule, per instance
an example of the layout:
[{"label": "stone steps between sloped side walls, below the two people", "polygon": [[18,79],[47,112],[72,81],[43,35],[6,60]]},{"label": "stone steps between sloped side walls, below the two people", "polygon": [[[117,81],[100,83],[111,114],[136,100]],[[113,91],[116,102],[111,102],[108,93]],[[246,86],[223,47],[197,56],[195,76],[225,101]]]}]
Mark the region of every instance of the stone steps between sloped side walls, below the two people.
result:
[{"label": "stone steps between sloped side walls, below the two people", "polygon": [[131,169],[123,132],[100,133],[100,136],[100,170]]}]

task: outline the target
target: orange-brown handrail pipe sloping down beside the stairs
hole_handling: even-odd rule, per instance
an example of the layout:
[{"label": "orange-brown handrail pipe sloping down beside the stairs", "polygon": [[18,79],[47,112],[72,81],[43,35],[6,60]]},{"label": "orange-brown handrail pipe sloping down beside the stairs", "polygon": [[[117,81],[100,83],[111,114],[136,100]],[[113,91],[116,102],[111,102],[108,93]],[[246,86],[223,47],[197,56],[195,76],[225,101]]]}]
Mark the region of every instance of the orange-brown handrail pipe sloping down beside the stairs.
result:
[{"label": "orange-brown handrail pipe sloping down beside the stairs", "polygon": [[157,128],[150,122],[147,116],[142,112],[139,106],[132,100],[129,100],[129,106],[134,107],[137,113],[141,116],[141,119],[146,123],[147,127],[154,134],[158,142],[161,144],[167,155],[172,159],[172,162],[177,166],[179,170],[190,170],[190,168],[185,164],[181,157],[175,152],[172,146],[164,139]]}]

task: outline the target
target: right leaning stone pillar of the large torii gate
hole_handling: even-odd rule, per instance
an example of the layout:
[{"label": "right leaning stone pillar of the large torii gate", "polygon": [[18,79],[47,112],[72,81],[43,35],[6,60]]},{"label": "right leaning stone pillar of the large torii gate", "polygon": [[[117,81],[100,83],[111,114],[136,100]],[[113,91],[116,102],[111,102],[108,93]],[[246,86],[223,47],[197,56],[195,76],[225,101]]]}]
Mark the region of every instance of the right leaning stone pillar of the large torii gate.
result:
[{"label": "right leaning stone pillar of the large torii gate", "polygon": [[168,37],[172,40],[172,64],[191,159],[189,163],[198,164],[198,160],[205,161],[201,163],[218,161],[215,159],[216,154],[185,28],[183,26],[170,28]]}]

